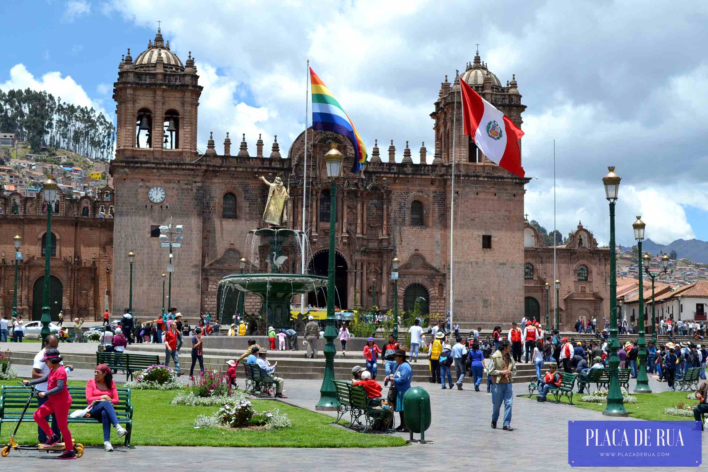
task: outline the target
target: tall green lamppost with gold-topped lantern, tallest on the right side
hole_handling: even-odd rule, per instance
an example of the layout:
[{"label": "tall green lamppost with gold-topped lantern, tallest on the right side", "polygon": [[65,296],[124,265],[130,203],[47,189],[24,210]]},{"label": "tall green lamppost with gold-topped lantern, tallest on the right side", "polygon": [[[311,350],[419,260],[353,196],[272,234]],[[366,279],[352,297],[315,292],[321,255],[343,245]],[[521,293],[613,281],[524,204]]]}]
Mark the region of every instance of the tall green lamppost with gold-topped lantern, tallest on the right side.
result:
[{"label": "tall green lamppost with gold-topped lantern, tallest on the right side", "polygon": [[615,173],[615,167],[607,168],[609,173],[603,178],[605,198],[610,201],[610,388],[607,391],[607,407],[603,415],[628,416],[624,409],[622,391],[619,389],[619,340],[617,339],[617,254],[615,253],[615,202],[619,192],[619,181],[622,178]]}]

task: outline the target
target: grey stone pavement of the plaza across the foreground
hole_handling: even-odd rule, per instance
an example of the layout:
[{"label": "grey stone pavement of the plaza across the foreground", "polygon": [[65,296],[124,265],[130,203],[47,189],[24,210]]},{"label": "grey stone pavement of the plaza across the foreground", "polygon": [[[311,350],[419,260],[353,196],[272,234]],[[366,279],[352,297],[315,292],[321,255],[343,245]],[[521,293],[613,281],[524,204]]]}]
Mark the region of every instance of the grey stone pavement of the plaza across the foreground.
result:
[{"label": "grey stone pavement of the plaza across the foreground", "polygon": [[[28,366],[18,366],[21,369]],[[76,372],[74,379],[88,379],[91,371]],[[651,379],[651,386],[666,390],[666,383]],[[314,410],[319,400],[320,381],[287,380],[285,394],[287,403]],[[514,472],[543,470],[570,470],[567,462],[567,420],[605,420],[607,417],[593,410],[584,410],[570,405],[537,403],[526,398],[514,398],[513,432],[492,430],[491,394],[442,390],[433,384],[419,384],[430,393],[433,424],[426,432],[426,440],[433,444],[412,444],[409,447],[382,449],[273,449],[273,448],[223,448],[223,447],[135,447],[117,448],[113,453],[102,448],[87,448],[84,457],[76,461],[47,463],[50,454],[30,451],[21,455],[11,451],[0,458],[3,470],[45,471],[69,468],[72,471],[150,470],[187,471],[194,468],[239,467],[248,464],[249,472],[290,470],[344,470],[391,471],[392,469],[416,469],[416,471],[440,472],[440,468],[462,466],[479,471],[497,469]],[[634,388],[634,381],[630,384]],[[655,388],[656,390],[656,388]],[[514,386],[515,395],[525,393],[523,384]],[[336,416],[335,412],[327,414]],[[617,418],[618,421],[626,419]],[[396,422],[397,422],[396,418]],[[96,434],[100,434],[97,430]],[[171,431],[169,434],[179,434]],[[401,434],[408,437],[408,434]],[[708,441],[704,436],[704,447]],[[418,435],[416,434],[416,439]],[[253,460],[257,455],[258,460]],[[451,462],[452,461],[452,462]],[[616,468],[593,468],[593,471],[612,471]],[[642,468],[649,471],[670,472],[679,470],[706,470],[702,468]]]}]

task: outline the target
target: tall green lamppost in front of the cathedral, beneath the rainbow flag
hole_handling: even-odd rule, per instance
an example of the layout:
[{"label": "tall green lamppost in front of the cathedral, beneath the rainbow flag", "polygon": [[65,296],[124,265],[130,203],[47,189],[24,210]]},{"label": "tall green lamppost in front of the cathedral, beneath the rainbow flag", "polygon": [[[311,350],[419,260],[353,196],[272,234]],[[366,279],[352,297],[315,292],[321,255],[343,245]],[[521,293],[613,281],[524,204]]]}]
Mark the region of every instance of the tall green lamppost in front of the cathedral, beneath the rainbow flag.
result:
[{"label": "tall green lamppost in front of the cathedral, beneath the rainbow flag", "polygon": [[332,143],[331,149],[324,155],[327,167],[327,176],[331,180],[331,205],[329,207],[329,280],[327,282],[327,318],[326,328],[324,328],[324,338],[327,340],[324,345],[324,379],[319,388],[319,402],[315,410],[336,410],[339,406],[337,401],[334,380],[334,338],[337,337],[337,330],[334,328],[334,297],[336,288],[334,287],[334,256],[336,251],[334,233],[336,229],[336,202],[337,202],[337,179],[342,169],[344,156],[337,151],[337,144]]}]

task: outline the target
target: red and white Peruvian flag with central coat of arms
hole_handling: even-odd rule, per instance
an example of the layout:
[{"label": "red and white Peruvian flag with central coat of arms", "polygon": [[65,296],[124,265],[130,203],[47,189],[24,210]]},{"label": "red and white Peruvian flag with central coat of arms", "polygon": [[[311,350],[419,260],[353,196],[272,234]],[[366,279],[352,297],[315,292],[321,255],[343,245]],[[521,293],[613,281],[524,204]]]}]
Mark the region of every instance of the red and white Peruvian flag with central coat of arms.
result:
[{"label": "red and white Peruvian flag with central coat of arms", "polygon": [[462,85],[462,122],[464,134],[471,136],[484,155],[510,173],[524,176],[518,139],[524,135],[508,116],[493,107],[467,85]]}]

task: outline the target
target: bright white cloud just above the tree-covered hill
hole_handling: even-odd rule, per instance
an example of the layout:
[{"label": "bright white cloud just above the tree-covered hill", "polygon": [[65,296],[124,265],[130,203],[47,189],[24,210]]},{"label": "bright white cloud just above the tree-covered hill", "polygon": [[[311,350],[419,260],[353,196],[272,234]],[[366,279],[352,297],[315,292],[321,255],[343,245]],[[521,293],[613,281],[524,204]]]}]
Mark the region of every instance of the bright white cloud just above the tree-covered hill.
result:
[{"label": "bright white cloud just above the tree-covered hill", "polygon": [[47,72],[38,80],[27,70],[25,64],[17,64],[10,69],[10,79],[0,83],[0,90],[2,91],[8,91],[13,88],[31,88],[36,91],[46,91],[55,96],[55,98],[61,97],[64,102],[89,108],[93,107],[108,117],[108,113],[103,109],[101,100],[91,100],[84,88],[76,84],[72,76],[62,77],[62,73],[58,71]]}]

